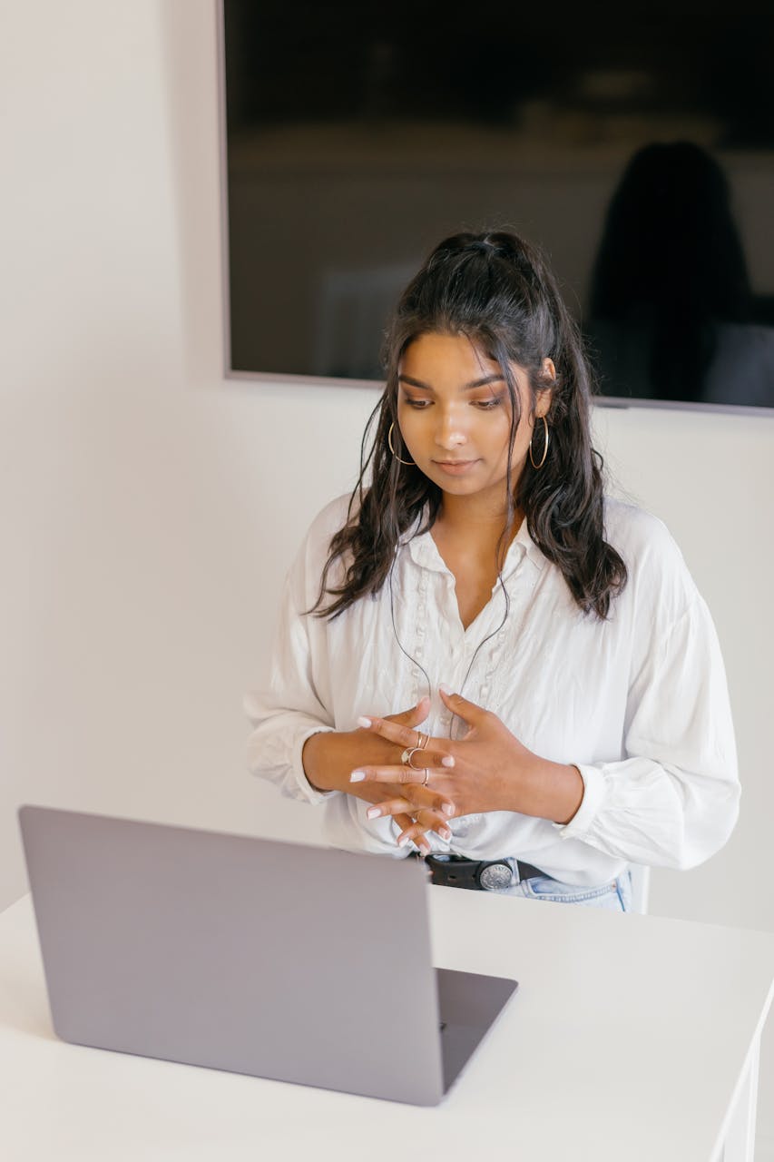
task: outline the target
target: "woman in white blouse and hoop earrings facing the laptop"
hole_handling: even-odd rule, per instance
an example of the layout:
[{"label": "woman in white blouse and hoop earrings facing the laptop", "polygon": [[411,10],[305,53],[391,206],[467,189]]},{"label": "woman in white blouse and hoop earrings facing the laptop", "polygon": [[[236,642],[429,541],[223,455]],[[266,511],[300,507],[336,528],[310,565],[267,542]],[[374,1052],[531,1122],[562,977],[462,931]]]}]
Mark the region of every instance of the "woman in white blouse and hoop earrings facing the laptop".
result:
[{"label": "woman in white blouse and hoop earrings facing the laptop", "polygon": [[525,242],[443,242],[385,352],[360,482],[248,698],[250,766],[324,801],[335,845],[625,910],[629,863],[691,867],[736,822],[707,608],[661,523],[603,496],[578,332]]}]

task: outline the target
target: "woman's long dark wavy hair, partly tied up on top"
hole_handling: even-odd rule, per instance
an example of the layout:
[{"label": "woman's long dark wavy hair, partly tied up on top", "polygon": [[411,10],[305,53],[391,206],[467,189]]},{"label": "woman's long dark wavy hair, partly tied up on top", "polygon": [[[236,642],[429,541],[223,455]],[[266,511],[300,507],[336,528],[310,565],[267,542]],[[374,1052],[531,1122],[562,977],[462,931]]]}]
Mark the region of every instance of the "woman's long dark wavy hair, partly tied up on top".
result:
[{"label": "woman's long dark wavy hair, partly tied up on top", "polygon": [[[611,598],[626,583],[626,566],[604,540],[602,459],[589,433],[590,373],[578,329],[546,263],[533,246],[506,231],[446,238],[403,292],[385,337],[387,382],[363,437],[360,478],[346,524],[331,539],[311,611],[336,617],[366,594],[379,593],[400,538],[414,528],[417,535],[427,531],[438,515],[438,486],[414,465],[402,465],[388,446],[394,424],[395,450],[407,459],[397,424],[399,367],[409,344],[427,333],[465,336],[502,368],[511,428],[509,508],[501,546],[521,510],[530,536],[560,569],[580,609],[605,618]],[[546,358],[553,360],[556,380],[545,379]],[[513,364],[528,374],[532,415],[537,394],[551,389],[545,464],[535,468],[528,457],[517,480],[511,474],[511,454],[521,403]],[[535,436],[539,462],[542,425]],[[338,586],[329,584],[335,561],[344,569]],[[501,567],[501,553],[497,561]]]}]

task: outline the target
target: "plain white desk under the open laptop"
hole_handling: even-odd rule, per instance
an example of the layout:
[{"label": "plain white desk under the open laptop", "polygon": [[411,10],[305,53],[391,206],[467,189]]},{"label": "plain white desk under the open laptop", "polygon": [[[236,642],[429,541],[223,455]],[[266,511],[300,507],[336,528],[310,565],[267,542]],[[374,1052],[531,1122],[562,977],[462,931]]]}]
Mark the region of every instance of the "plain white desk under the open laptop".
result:
[{"label": "plain white desk under the open laptop", "polygon": [[436,1109],[64,1045],[20,901],[0,916],[3,1162],[751,1162],[774,934],[428,890],[436,963],[521,982]]}]

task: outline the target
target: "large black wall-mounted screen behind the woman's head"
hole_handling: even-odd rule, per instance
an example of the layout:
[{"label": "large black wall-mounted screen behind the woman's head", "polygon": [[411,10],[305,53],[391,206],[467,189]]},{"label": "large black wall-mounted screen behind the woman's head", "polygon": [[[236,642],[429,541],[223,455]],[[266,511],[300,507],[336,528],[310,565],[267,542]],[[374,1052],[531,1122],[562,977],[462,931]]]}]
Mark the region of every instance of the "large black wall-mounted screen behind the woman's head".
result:
[{"label": "large black wall-mounted screen behind the woman's head", "polygon": [[224,0],[222,33],[230,370],[380,379],[427,252],[509,225],[601,394],[774,407],[771,3]]}]

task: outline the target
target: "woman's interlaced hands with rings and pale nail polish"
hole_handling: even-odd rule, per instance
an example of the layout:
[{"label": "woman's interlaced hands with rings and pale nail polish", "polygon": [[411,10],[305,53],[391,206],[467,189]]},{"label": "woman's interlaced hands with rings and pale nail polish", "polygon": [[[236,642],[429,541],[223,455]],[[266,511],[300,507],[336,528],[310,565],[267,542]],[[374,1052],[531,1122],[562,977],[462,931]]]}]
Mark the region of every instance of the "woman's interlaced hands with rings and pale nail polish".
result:
[{"label": "woman's interlaced hands with rings and pale nail polish", "polygon": [[[430,851],[427,832],[451,839],[449,820],[454,816],[518,810],[514,804],[518,799],[519,768],[537,758],[495,713],[445,687],[439,693],[444,705],[466,723],[463,738],[452,741],[430,737],[421,751],[415,749],[410,765],[360,766],[350,775],[353,783],[400,786],[399,796],[373,803],[367,816],[370,819],[393,816],[402,829],[399,846],[414,841],[425,854]],[[402,751],[410,751],[422,741],[418,726],[429,709],[429,700],[424,697],[403,715],[359,718],[358,725]]]}]

